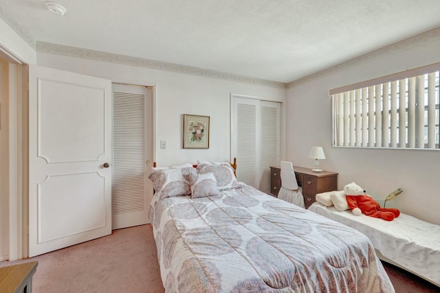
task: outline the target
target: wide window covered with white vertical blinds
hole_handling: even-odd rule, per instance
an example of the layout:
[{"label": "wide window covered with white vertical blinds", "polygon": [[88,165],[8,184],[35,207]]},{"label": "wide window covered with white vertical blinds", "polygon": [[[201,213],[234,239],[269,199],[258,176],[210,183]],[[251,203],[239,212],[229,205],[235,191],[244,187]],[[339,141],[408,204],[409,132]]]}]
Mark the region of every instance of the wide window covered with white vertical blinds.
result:
[{"label": "wide window covered with white vertical blinds", "polygon": [[333,89],[333,146],[439,148],[440,63]]}]

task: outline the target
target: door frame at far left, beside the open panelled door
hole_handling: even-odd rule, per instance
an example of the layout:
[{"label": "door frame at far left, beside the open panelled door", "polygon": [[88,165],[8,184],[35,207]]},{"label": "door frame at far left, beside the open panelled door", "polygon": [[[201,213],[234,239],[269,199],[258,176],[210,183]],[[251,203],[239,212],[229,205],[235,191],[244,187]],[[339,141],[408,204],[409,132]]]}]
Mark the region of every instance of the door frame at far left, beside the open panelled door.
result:
[{"label": "door frame at far left, beside the open panelled door", "polygon": [[[27,98],[28,98],[28,66],[0,46],[0,57],[9,62],[8,78],[8,257],[12,261],[27,256],[28,206],[23,196],[27,188]],[[0,259],[5,260],[3,258]]]}]

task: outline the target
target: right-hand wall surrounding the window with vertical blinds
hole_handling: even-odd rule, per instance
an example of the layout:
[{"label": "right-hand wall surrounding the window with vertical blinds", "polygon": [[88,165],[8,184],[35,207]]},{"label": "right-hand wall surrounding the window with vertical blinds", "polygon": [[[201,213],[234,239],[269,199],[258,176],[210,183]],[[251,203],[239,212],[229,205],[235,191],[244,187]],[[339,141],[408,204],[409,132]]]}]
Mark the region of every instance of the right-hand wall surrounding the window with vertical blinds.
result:
[{"label": "right-hand wall surrounding the window with vertical blinds", "polygon": [[440,62],[440,40],[421,43],[406,49],[397,46],[376,54],[375,58],[360,59],[358,64],[351,62],[347,69],[288,89],[287,160],[294,165],[312,167],[313,161],[307,158],[309,150],[313,145],[321,145],[327,159],[320,161],[320,166],[339,173],[339,189],[355,181],[381,200],[401,187],[404,193],[387,202],[387,207],[397,207],[404,213],[440,224],[439,151],[331,147],[329,89]]}]

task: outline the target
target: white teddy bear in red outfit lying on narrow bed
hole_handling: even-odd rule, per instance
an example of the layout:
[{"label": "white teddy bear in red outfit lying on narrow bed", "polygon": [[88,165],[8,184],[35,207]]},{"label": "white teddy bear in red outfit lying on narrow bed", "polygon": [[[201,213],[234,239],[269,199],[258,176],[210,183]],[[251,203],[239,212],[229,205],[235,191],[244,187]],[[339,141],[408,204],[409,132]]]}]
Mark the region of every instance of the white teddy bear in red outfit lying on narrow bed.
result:
[{"label": "white teddy bear in red outfit lying on narrow bed", "polygon": [[344,194],[351,212],[355,215],[361,215],[361,213],[363,213],[369,217],[382,218],[386,221],[392,221],[400,215],[398,209],[380,207],[377,201],[366,194],[365,190],[354,182],[345,185]]}]

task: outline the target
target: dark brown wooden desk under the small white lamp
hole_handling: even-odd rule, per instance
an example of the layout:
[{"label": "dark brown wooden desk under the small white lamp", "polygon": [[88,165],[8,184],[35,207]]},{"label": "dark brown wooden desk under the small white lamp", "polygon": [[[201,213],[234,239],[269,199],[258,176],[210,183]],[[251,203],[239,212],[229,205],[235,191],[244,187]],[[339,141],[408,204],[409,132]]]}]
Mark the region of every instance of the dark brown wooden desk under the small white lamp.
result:
[{"label": "dark brown wooden desk under the small white lamp", "polygon": [[[338,173],[335,172],[312,172],[309,168],[294,167],[296,181],[303,187],[305,208],[316,202],[316,194],[321,192],[338,190]],[[270,193],[278,196],[281,188],[280,167],[270,167]]]}]

